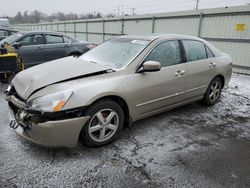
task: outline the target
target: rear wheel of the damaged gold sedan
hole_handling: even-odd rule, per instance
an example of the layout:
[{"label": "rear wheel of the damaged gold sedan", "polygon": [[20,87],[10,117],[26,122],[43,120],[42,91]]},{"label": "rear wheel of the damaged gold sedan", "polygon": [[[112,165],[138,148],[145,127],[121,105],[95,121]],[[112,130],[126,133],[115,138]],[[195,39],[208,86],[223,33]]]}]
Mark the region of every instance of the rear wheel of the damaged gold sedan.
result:
[{"label": "rear wheel of the damaged gold sedan", "polygon": [[214,105],[220,98],[222,87],[222,80],[219,77],[214,78],[207,88],[202,103],[207,106]]}]

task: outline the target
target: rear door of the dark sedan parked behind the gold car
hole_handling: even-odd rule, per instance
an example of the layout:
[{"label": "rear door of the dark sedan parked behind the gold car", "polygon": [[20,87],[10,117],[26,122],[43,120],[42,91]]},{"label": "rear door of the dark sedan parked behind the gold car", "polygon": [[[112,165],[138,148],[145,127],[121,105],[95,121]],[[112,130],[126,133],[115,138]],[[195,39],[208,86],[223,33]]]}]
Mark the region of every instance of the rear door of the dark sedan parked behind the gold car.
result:
[{"label": "rear door of the dark sedan parked behind the gold car", "polygon": [[67,44],[62,35],[45,34],[46,45],[43,49],[44,59],[51,61],[66,56]]}]

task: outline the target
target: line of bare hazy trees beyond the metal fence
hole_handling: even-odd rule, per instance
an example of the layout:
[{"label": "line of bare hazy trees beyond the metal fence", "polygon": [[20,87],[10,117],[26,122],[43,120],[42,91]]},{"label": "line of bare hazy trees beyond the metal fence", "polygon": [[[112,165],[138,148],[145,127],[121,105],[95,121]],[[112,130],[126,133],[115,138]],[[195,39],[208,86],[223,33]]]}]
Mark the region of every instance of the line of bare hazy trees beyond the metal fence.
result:
[{"label": "line of bare hazy trees beyond the metal fence", "polygon": [[[106,15],[107,17],[113,17],[113,14]],[[40,22],[52,22],[52,21],[67,21],[67,20],[79,20],[79,19],[91,19],[91,18],[102,18],[100,12],[87,13],[87,14],[74,14],[74,13],[63,13],[57,12],[53,14],[45,14],[38,10],[28,12],[18,12],[15,16],[2,16],[1,18],[9,19],[11,24],[21,23],[40,23]]]}]

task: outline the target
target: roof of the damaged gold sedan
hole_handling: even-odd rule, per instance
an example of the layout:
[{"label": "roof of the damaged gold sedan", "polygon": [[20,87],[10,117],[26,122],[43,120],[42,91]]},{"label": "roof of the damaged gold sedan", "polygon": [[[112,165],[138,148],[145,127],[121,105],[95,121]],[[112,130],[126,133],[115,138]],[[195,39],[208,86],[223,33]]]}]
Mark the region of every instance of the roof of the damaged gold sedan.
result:
[{"label": "roof of the damaged gold sedan", "polygon": [[181,34],[162,34],[162,33],[154,33],[154,34],[148,34],[148,35],[123,35],[119,38],[132,38],[132,39],[138,39],[138,40],[156,40],[156,39],[192,39],[192,40],[202,40],[198,37],[189,36],[189,35],[181,35]]}]

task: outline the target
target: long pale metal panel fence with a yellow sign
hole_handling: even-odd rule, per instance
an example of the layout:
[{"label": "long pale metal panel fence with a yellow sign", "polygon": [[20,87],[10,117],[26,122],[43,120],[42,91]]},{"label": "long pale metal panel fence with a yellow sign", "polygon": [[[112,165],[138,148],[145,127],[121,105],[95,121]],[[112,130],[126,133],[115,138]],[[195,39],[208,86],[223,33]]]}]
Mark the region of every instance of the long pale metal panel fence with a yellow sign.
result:
[{"label": "long pale metal panel fence with a yellow sign", "polygon": [[15,28],[59,31],[96,44],[124,34],[193,35],[210,41],[221,51],[230,54],[234,60],[235,72],[250,74],[250,6],[123,18],[19,24],[15,25]]}]

